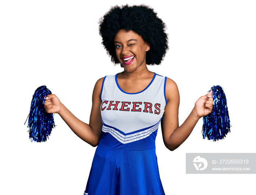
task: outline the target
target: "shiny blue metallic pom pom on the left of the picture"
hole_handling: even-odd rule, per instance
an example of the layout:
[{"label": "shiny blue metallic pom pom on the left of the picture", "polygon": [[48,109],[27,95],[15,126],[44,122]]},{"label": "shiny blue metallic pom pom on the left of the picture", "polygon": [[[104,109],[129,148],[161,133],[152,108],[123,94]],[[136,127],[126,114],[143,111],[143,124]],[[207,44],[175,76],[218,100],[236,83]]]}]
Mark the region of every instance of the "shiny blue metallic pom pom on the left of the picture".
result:
[{"label": "shiny blue metallic pom pom on the left of the picture", "polygon": [[46,86],[41,86],[35,90],[33,95],[29,116],[27,117],[29,118],[27,127],[29,127],[31,142],[45,142],[47,138],[49,139],[48,136],[52,128],[55,127],[53,114],[44,111],[45,98],[49,94],[52,94],[52,92]]}]

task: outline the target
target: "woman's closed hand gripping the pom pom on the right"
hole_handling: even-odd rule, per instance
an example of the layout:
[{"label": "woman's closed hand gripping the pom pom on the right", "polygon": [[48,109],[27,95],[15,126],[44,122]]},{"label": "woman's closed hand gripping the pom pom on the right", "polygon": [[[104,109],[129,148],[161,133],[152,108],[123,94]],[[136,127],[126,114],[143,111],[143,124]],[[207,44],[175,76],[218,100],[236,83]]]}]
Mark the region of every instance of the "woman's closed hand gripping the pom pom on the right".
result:
[{"label": "woman's closed hand gripping the pom pom on the right", "polygon": [[202,116],[206,116],[212,112],[213,106],[213,98],[212,91],[210,91],[207,95],[200,97],[195,103],[195,114],[198,118]]}]

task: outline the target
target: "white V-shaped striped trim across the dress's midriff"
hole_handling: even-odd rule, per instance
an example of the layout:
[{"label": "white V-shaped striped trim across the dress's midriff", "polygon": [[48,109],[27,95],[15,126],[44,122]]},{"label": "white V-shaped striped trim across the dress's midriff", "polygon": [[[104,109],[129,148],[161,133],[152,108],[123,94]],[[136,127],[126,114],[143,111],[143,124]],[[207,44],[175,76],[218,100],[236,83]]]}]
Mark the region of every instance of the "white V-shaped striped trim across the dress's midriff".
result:
[{"label": "white V-shaped striped trim across the dress's midriff", "polygon": [[105,125],[102,126],[102,131],[105,133],[110,133],[114,138],[120,141],[122,144],[127,144],[130,142],[138,141],[140,139],[144,139],[152,134],[155,130],[158,129],[160,121],[155,124],[153,127],[150,127],[146,130],[140,131],[138,133],[133,133],[129,135],[123,135],[119,131],[113,129],[112,127],[107,127]]}]

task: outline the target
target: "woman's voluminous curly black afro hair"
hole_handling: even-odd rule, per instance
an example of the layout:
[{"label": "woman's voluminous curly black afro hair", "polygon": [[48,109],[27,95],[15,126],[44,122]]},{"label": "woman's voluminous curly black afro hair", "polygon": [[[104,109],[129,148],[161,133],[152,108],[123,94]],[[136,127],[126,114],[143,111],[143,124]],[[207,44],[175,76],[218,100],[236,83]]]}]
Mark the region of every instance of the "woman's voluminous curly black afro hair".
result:
[{"label": "woman's voluminous curly black afro hair", "polygon": [[116,5],[99,21],[102,45],[114,64],[120,63],[116,56],[114,37],[120,29],[125,29],[134,31],[150,44],[150,51],[146,53],[146,64],[159,65],[168,49],[165,28],[165,23],[158,18],[157,13],[146,5]]}]

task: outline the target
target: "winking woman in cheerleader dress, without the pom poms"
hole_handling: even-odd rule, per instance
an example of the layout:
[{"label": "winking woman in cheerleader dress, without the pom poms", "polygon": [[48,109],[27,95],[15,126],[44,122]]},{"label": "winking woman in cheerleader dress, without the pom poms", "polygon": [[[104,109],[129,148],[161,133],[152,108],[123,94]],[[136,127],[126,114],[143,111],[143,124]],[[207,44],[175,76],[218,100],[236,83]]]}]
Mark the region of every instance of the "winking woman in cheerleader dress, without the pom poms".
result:
[{"label": "winking woman in cheerleader dress, without the pom poms", "polygon": [[150,72],[165,56],[165,24],[146,6],[113,7],[100,21],[102,44],[112,62],[124,71],[97,81],[90,122],[76,118],[57,98],[48,95],[45,110],[58,113],[95,152],[84,195],[163,195],[155,154],[161,122],[163,141],[175,150],[197,121],[212,111],[212,92],[195,103],[185,122],[178,125],[180,102],[176,83]]}]

